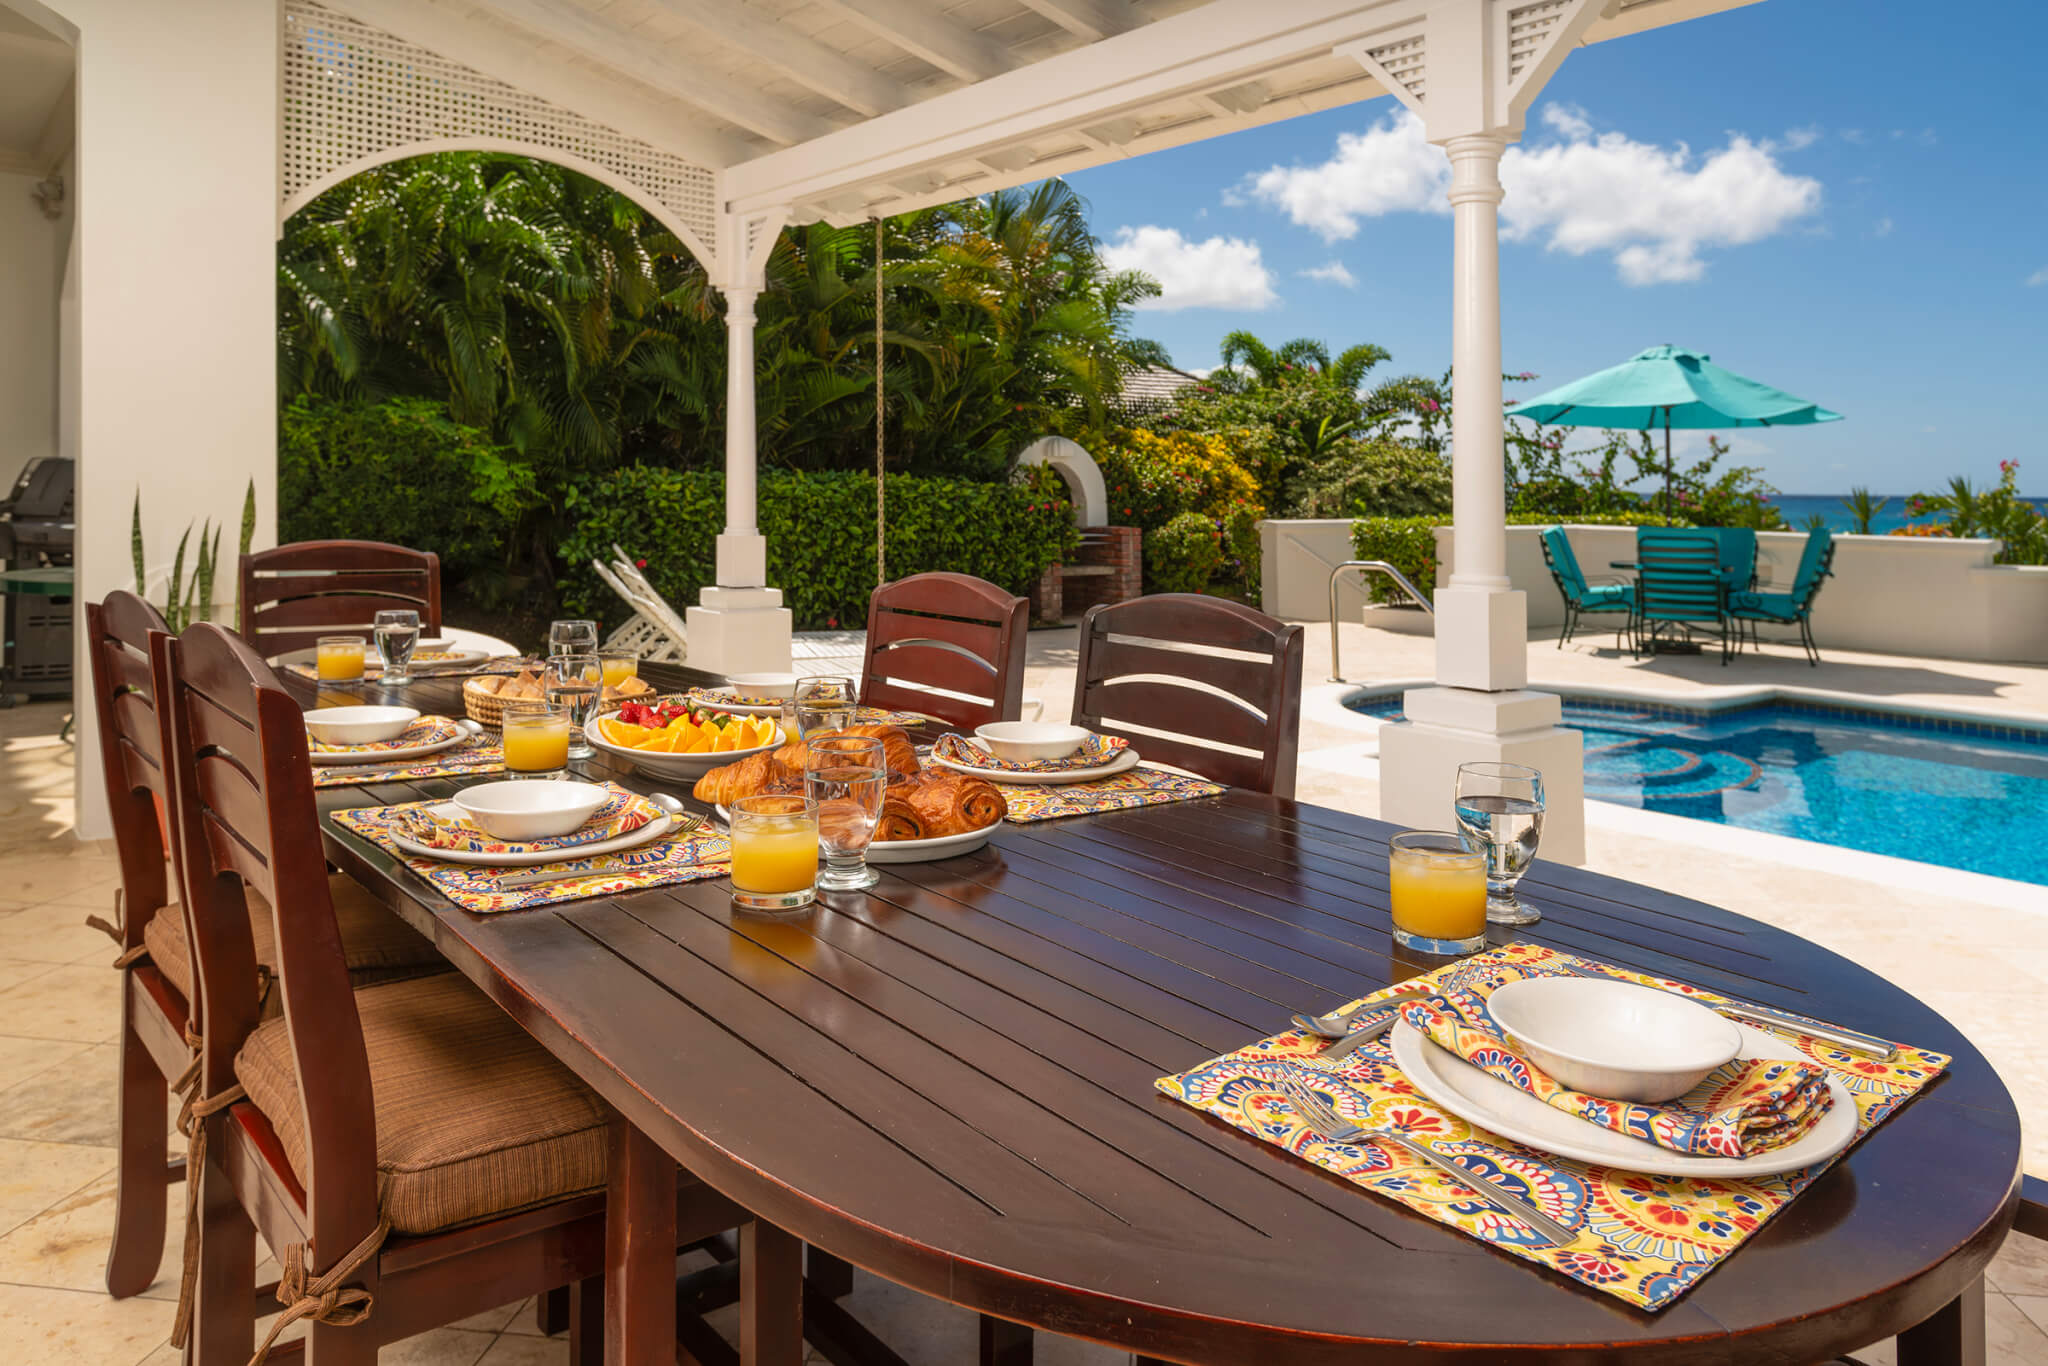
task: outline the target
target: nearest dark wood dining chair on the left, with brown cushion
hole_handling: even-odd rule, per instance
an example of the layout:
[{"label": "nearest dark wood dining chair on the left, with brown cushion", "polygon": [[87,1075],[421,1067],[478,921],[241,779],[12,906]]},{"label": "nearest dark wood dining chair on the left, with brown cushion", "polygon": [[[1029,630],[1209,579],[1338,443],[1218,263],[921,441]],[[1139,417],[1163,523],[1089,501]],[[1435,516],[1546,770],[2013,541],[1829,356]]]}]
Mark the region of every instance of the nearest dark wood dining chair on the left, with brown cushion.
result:
[{"label": "nearest dark wood dining chair on the left, with brown cushion", "polygon": [[[260,1233],[283,1266],[272,1337],[307,1321],[317,1366],[369,1366],[383,1343],[563,1284],[582,1290],[571,1360],[594,1362],[606,1171],[631,1130],[467,979],[350,983],[301,711],[246,641],[162,635],[152,676],[207,1020],[174,1341],[190,1333],[195,1366],[252,1360]],[[272,1018],[254,895],[272,915]],[[676,1204],[682,1243],[756,1233],[690,1178]]]}]

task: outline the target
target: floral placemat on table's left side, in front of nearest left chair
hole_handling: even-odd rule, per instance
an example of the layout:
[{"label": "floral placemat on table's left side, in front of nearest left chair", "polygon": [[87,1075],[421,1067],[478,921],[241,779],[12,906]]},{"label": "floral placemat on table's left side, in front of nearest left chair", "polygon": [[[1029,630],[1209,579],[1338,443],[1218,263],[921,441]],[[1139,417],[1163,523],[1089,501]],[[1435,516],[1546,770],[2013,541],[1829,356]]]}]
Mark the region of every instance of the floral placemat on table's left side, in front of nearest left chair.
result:
[{"label": "floral placemat on table's left side, in front of nearest left chair", "polygon": [[[438,805],[442,803],[422,801],[397,807],[336,811],[334,823],[397,854],[397,846],[391,842],[393,821],[403,819],[416,807]],[[465,911],[524,911],[537,905],[582,901],[584,897],[606,897],[621,891],[645,891],[649,887],[668,887],[670,883],[725,877],[733,870],[731,848],[723,831],[698,827],[688,834],[664,836],[637,850],[565,858],[528,868],[481,868],[475,864],[440,862],[438,858],[397,856],[403,858],[408,868],[424,877],[440,895]],[[563,881],[526,887],[504,885],[508,877],[543,870],[561,872]]]}]

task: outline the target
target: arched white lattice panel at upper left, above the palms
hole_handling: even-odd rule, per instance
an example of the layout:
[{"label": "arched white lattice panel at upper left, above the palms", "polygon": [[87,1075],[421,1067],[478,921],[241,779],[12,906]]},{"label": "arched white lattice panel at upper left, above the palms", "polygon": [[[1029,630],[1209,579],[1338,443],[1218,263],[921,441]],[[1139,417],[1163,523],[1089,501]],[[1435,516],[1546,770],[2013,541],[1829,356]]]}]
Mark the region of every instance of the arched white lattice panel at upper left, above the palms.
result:
[{"label": "arched white lattice panel at upper left, above the palms", "polygon": [[715,250],[713,172],[694,162],[311,0],[285,2],[283,41],[287,205],[344,166],[422,143],[514,143],[598,168],[608,184],[686,227],[692,250]]}]

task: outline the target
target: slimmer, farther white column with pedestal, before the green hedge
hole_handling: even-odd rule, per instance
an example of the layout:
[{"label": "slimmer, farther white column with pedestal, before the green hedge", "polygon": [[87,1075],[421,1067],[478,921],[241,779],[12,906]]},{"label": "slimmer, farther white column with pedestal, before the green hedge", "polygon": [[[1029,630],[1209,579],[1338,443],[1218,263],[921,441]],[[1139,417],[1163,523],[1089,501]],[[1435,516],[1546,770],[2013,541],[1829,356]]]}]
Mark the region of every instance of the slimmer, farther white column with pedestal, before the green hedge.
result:
[{"label": "slimmer, farther white column with pedestal, before the green hedge", "polygon": [[[735,242],[739,233],[721,233]],[[741,274],[739,262],[723,262]],[[688,664],[713,674],[780,674],[791,668],[791,612],[768,588],[768,539],[758,516],[760,420],[754,412],[754,301],[760,285],[725,287],[725,532],[719,582],[684,612]]]}]

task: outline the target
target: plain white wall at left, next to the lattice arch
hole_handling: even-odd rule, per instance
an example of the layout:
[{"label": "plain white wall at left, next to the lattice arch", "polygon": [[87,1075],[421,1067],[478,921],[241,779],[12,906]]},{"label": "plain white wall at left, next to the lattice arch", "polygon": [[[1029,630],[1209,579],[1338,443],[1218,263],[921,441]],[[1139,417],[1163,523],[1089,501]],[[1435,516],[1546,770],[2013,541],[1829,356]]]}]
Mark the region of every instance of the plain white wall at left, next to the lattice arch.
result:
[{"label": "plain white wall at left, next to the lattice arch", "polygon": [[[178,532],[242,514],[274,541],[279,16],[274,0],[27,0],[78,47],[78,588],[152,578]],[[68,377],[59,381],[68,391]],[[80,633],[80,645],[84,633]],[[86,676],[84,651],[76,659]],[[78,834],[106,834],[80,709]]]}]

